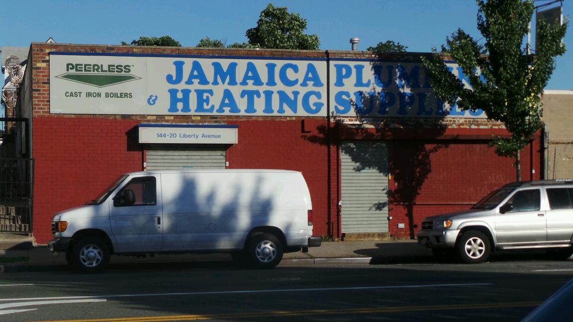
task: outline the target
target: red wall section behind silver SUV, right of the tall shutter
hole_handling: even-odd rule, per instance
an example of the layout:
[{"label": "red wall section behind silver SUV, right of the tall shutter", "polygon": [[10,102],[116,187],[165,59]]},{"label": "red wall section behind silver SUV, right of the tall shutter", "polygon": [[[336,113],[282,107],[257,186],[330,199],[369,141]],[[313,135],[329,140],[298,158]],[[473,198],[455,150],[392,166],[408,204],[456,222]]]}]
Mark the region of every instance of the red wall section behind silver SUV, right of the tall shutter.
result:
[{"label": "red wall section behind silver SUV, right of the tall shutter", "polygon": [[[469,209],[490,191],[515,181],[513,159],[500,158],[487,143],[483,140],[444,140],[437,144],[393,142],[390,163],[393,179],[389,185],[391,194],[397,198],[390,207],[393,217],[389,222],[390,234],[413,237],[423,218]],[[539,159],[532,164],[529,158],[537,148],[539,144],[534,141],[521,153],[523,180],[539,179]],[[532,169],[536,171],[530,175]],[[405,228],[398,228],[398,223],[405,223]]]}]

